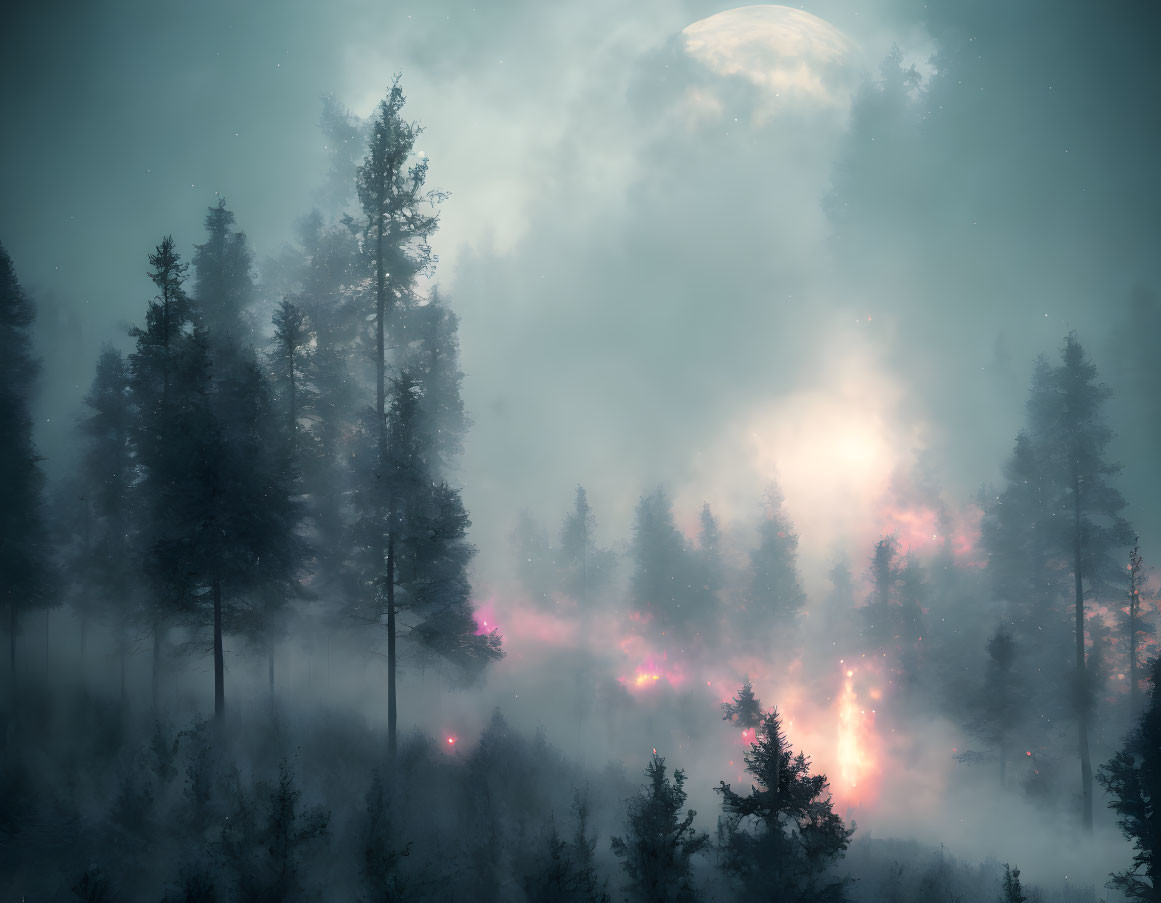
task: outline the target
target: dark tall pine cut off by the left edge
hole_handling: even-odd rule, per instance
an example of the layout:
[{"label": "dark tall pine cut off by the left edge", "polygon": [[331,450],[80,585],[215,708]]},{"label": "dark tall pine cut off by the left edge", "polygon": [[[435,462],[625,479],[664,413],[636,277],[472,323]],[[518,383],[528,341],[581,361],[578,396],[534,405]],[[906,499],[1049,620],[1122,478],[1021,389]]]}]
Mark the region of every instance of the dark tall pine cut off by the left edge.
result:
[{"label": "dark tall pine cut off by the left edge", "polygon": [[8,667],[16,681],[16,630],[27,612],[49,605],[44,478],[33,443],[29,398],[39,369],[33,356],[33,302],[0,245],[0,581],[8,609]]}]

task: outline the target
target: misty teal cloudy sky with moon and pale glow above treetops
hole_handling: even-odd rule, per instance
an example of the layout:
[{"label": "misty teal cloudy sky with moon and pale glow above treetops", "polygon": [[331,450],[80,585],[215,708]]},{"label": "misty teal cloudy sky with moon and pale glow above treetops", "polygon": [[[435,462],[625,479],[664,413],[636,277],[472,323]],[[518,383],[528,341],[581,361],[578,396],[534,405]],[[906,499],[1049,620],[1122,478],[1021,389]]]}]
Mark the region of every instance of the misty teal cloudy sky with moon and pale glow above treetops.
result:
[{"label": "misty teal cloudy sky with moon and pale glow above treetops", "polygon": [[[878,528],[895,475],[953,504],[997,479],[1069,330],[1119,391],[1155,532],[1161,370],[1131,306],[1161,275],[1153,8],[728,9],[27,6],[0,36],[0,240],[42,304],[45,410],[124,342],[161,234],[188,251],[221,194],[276,252],[320,197],[320,96],[367,115],[402,72],[450,192],[438,281],[485,554],[578,482],[613,539],[658,482],[691,522],[707,499],[749,516],[777,478],[821,561]],[[50,472],[70,429],[41,424]]]}]

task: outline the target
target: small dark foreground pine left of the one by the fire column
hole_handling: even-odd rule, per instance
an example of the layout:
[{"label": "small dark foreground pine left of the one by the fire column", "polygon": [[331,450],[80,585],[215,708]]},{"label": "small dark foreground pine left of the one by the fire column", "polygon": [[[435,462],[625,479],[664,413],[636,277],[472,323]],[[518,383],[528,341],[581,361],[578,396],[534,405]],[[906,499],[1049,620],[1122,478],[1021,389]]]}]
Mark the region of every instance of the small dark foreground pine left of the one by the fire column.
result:
[{"label": "small dark foreground pine left of the one by the fire column", "polygon": [[697,812],[685,806],[685,772],[670,781],[665,759],[654,754],[646,768],[649,782],[629,801],[628,831],[612,840],[613,854],[629,876],[629,888],[642,903],[685,903],[699,898],[691,860],[709,845],[697,831]]}]

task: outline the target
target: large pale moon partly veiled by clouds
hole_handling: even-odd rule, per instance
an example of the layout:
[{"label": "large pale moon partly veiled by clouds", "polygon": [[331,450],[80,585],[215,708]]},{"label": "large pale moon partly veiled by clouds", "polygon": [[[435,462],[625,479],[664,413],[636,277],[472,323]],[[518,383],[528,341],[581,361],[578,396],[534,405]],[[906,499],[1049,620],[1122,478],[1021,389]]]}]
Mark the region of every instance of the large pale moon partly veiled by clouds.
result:
[{"label": "large pale moon partly veiled by clouds", "polygon": [[792,104],[846,107],[858,49],[817,16],[788,6],[742,6],[682,31],[685,52],[716,75],[763,89],[777,110]]}]

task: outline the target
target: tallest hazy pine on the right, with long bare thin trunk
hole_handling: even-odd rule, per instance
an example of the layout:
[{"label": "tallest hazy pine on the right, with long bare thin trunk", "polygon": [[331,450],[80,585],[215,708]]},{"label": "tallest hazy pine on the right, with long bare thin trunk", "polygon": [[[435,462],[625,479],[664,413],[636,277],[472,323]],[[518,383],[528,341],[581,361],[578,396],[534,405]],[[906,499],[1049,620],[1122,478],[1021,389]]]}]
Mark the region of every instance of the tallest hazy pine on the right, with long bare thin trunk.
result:
[{"label": "tallest hazy pine on the right, with long bare thin trunk", "polygon": [[[1030,433],[1048,475],[1055,551],[1072,565],[1075,613],[1075,716],[1081,759],[1082,822],[1093,828],[1093,765],[1089,725],[1093,693],[1086,671],[1086,594],[1109,598],[1122,575],[1123,550],[1132,532],[1125,500],[1111,484],[1118,467],[1105,458],[1112,432],[1105,426],[1110,390],[1096,382],[1096,367],[1075,334],[1065,339],[1061,363],[1037,364],[1027,404]],[[1115,592],[1115,591],[1113,591]]]}]

